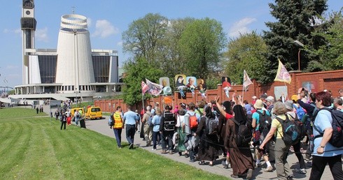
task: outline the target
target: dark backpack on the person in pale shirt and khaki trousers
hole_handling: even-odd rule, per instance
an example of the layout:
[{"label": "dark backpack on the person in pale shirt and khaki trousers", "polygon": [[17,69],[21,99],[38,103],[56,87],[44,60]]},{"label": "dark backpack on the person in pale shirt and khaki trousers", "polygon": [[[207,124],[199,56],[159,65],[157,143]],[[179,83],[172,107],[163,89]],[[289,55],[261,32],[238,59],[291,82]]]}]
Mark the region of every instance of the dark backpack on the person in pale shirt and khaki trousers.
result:
[{"label": "dark backpack on the person in pale shirt and khaki trousers", "polygon": [[[293,121],[288,118],[286,114],[286,119],[276,117],[276,119],[281,123],[282,126],[282,133],[281,136],[283,142],[286,145],[294,145],[300,141],[301,138],[301,127],[299,126],[302,123],[299,119],[294,119]],[[279,132],[280,133],[280,132]]]}]

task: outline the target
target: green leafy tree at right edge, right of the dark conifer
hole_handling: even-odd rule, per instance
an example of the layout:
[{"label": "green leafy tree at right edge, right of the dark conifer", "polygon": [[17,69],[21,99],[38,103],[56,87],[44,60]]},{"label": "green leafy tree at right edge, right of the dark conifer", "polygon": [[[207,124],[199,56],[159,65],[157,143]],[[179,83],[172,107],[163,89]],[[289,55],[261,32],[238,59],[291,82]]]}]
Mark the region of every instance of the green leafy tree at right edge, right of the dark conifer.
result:
[{"label": "green leafy tree at right edge, right of the dark conifer", "polygon": [[[326,25],[328,24],[328,25]],[[318,50],[311,50],[318,61],[310,61],[308,71],[339,70],[343,69],[343,15],[342,10],[334,12],[328,20],[324,20],[323,26],[327,29],[319,29],[312,36],[320,37],[325,41]]]}]

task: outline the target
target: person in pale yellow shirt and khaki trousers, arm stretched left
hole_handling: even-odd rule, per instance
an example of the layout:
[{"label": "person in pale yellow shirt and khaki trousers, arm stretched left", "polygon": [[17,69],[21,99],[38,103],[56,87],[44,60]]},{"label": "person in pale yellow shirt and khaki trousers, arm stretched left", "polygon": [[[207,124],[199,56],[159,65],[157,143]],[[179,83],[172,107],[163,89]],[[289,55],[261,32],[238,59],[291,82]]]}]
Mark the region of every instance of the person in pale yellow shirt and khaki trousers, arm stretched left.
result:
[{"label": "person in pale yellow shirt and khaki trousers, arm stretched left", "polygon": [[272,119],[272,126],[265,137],[265,140],[260,144],[259,149],[265,149],[265,145],[272,139],[275,135],[275,167],[276,176],[278,179],[293,179],[292,171],[287,162],[288,151],[290,149],[290,144],[283,142],[283,126],[281,122],[277,119],[285,121],[290,119],[289,115],[286,115],[286,106],[281,102],[276,102],[274,104],[274,113],[276,114],[276,119]]}]

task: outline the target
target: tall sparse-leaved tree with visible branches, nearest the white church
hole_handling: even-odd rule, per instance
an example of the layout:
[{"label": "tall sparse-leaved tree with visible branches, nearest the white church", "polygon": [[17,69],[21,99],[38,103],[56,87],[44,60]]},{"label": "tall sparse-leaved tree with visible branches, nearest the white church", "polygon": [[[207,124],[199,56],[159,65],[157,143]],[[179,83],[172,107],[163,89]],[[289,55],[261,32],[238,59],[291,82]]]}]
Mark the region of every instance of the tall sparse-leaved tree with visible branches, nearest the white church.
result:
[{"label": "tall sparse-leaved tree with visible branches, nearest the white church", "polygon": [[168,21],[167,17],[153,13],[135,20],[123,32],[123,51],[137,58],[144,57],[148,63],[159,64],[163,57],[160,52],[165,48]]}]

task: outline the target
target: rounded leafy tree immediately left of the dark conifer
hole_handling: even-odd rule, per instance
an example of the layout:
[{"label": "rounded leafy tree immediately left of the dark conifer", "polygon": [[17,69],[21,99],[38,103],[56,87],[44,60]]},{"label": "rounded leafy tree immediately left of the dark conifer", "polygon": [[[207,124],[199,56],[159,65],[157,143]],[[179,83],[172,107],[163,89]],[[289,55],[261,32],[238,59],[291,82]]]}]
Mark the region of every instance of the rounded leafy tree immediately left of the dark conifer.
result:
[{"label": "rounded leafy tree immediately left of the dark conifer", "polygon": [[243,83],[244,70],[250,78],[265,83],[269,78],[266,53],[267,45],[255,31],[241,34],[239,38],[230,40],[228,44],[228,52],[225,52],[225,57],[228,59],[224,63],[225,73],[236,84]]}]

